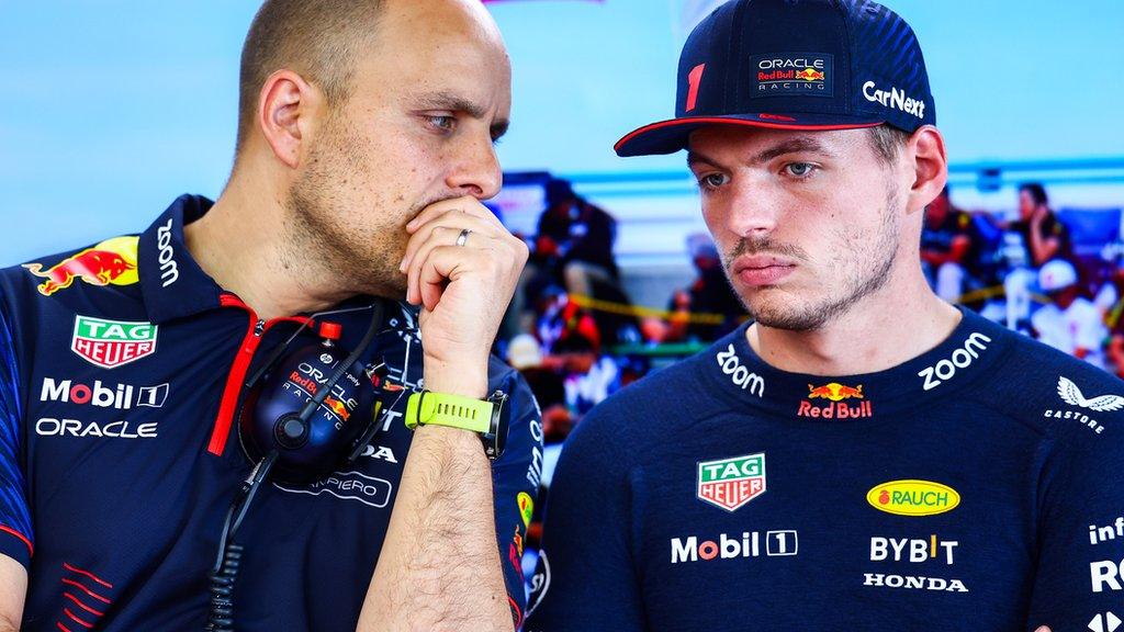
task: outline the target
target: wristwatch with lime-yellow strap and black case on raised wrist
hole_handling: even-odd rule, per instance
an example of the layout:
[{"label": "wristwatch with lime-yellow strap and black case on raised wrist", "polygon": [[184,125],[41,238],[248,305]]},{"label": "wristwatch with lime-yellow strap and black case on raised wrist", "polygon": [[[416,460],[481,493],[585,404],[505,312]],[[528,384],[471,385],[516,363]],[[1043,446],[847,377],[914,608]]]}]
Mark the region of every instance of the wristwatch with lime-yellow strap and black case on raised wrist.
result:
[{"label": "wristwatch with lime-yellow strap and black case on raised wrist", "polygon": [[480,434],[484,454],[495,461],[507,444],[509,410],[507,394],[493,391],[488,399],[423,390],[410,395],[406,403],[406,427],[420,425],[448,426]]}]

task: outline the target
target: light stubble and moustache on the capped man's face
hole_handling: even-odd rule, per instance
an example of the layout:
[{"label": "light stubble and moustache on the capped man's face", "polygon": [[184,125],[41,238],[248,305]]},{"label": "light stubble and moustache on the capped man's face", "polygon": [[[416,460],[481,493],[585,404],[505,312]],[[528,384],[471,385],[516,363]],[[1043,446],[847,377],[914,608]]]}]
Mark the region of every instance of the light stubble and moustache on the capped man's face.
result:
[{"label": "light stubble and moustache on the capped man's face", "polygon": [[[762,288],[756,292],[785,292],[776,299],[768,296],[754,297],[736,292],[750,317],[764,326],[790,332],[815,332],[854,308],[862,299],[886,286],[897,261],[898,241],[901,227],[897,220],[900,198],[888,184],[886,202],[880,217],[880,231],[873,243],[863,243],[862,235],[840,232],[841,250],[835,253],[824,270],[845,271],[841,279],[825,279],[823,287],[831,294],[819,294],[808,299],[787,292],[781,288]],[[855,256],[867,252],[867,256]],[[779,254],[798,261],[807,261],[803,250],[788,244],[779,244],[768,235],[744,238],[725,258],[727,280],[732,278],[731,263],[743,254]],[[833,289],[836,291],[832,292]],[[735,288],[736,290],[736,288]],[[754,305],[755,303],[755,305]]]}]

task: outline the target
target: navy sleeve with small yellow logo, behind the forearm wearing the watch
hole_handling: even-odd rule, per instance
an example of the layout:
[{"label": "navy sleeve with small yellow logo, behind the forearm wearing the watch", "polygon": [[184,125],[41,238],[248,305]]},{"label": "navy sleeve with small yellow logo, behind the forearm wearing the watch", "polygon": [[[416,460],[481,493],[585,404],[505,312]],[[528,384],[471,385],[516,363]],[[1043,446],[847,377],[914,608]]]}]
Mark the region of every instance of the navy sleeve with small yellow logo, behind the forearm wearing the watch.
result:
[{"label": "navy sleeve with small yellow logo, behind the forearm wearing the watch", "polygon": [[504,455],[492,464],[492,496],[508,605],[518,629],[527,610],[523,542],[538,494],[543,467],[543,424],[535,397],[517,372],[509,370],[501,385],[504,391],[509,394],[509,432]]}]

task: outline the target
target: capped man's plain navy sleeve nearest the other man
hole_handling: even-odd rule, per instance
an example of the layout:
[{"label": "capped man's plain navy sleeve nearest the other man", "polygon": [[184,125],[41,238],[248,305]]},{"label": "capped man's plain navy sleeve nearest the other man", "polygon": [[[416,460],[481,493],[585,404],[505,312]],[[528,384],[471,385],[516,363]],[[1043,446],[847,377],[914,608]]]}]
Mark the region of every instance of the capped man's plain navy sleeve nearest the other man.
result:
[{"label": "capped man's plain navy sleeve nearest the other man", "polygon": [[[551,481],[526,632],[645,629],[635,575],[631,468],[611,406],[566,440]],[[619,419],[616,419],[619,421]]]}]

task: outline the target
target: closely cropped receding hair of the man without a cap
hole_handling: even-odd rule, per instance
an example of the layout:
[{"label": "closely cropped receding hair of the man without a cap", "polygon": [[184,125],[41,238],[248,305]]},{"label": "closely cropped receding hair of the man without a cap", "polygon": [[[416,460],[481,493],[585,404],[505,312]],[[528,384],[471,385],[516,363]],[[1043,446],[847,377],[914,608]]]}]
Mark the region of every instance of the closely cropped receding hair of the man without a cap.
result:
[{"label": "closely cropped receding hair of the man without a cap", "polygon": [[265,0],[242,46],[238,78],[241,152],[254,127],[257,96],[281,69],[324,91],[329,108],[351,96],[359,52],[374,39],[384,0]]}]

